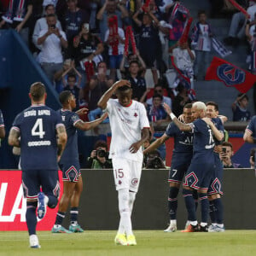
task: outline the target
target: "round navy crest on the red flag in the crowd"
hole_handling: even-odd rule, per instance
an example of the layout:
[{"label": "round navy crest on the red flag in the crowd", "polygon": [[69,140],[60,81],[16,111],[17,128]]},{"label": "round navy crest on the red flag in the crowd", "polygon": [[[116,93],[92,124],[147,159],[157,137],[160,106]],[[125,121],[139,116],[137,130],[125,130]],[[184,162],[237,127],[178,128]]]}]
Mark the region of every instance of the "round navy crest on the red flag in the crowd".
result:
[{"label": "round navy crest on the red flag in the crowd", "polygon": [[246,73],[230,64],[222,64],[217,70],[218,78],[221,79],[227,86],[242,84],[246,79]]}]

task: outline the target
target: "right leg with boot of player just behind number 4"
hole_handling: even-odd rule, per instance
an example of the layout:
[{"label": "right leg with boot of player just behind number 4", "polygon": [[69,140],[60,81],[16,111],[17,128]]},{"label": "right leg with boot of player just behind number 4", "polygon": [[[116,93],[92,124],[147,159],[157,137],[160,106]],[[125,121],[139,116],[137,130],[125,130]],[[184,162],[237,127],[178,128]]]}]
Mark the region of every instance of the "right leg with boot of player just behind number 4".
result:
[{"label": "right leg with boot of player just behind number 4", "polygon": [[83,191],[83,179],[79,175],[79,181],[75,184],[73,195],[70,202],[70,225],[69,230],[72,232],[84,232],[81,226],[78,223],[79,216],[79,201]]}]

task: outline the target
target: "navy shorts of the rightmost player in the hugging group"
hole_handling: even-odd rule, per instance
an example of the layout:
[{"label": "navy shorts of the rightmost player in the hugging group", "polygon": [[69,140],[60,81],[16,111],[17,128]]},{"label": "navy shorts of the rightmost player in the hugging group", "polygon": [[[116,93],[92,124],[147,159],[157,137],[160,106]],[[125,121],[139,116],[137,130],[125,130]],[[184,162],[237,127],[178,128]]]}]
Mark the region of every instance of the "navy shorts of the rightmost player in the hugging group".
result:
[{"label": "navy shorts of the rightmost player in the hugging group", "polygon": [[214,172],[208,189],[208,195],[219,194],[223,195],[222,191],[222,180],[223,180],[223,164],[219,160],[215,160]]}]

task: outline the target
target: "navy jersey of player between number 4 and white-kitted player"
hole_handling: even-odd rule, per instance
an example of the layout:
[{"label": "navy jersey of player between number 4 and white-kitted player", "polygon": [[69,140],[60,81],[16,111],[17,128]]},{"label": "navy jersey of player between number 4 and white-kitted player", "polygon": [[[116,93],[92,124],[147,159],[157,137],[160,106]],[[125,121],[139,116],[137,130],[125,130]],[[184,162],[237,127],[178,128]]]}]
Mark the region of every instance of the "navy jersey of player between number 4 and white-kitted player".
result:
[{"label": "navy jersey of player between number 4 and white-kitted player", "polygon": [[61,109],[59,113],[67,131],[67,144],[61,155],[60,164],[79,161],[78,132],[74,126],[80,121],[79,115],[67,109]]}]

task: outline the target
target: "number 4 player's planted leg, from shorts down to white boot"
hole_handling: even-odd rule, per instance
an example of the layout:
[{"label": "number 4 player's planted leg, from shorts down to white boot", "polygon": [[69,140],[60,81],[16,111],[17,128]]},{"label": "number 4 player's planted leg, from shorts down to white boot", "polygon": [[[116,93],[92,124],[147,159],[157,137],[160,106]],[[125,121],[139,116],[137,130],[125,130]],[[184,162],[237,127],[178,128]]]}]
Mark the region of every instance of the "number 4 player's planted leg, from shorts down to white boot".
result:
[{"label": "number 4 player's planted leg, from shorts down to white boot", "polygon": [[26,198],[26,226],[29,234],[29,243],[32,248],[39,248],[38,236],[36,234],[38,207],[38,192],[40,183],[37,177],[37,171],[22,172],[23,194]]}]

